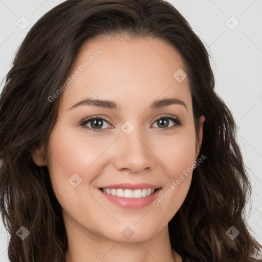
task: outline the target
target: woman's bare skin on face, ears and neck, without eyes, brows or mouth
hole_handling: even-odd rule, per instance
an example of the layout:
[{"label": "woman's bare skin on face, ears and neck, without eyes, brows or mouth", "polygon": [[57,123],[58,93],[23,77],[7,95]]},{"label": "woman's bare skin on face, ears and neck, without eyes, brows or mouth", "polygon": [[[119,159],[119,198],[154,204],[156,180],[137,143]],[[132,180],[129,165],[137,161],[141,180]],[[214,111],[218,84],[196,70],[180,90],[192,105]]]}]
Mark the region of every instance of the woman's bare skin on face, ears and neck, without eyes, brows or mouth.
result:
[{"label": "woman's bare skin on face, ears and neck, without eyes, brows or mouth", "polygon": [[[192,173],[158,207],[121,208],[98,191],[130,182],[158,185],[164,193],[198,159],[205,118],[199,119],[196,151],[189,79],[178,82],[173,77],[178,69],[186,71],[182,58],[160,39],[99,38],[81,48],[69,76],[97,49],[101,54],[62,93],[47,156],[45,145],[35,150],[35,163],[48,166],[62,207],[69,242],[66,261],[182,261],[171,249],[168,222],[186,198]],[[121,110],[89,105],[69,109],[86,97],[115,101]],[[162,98],[180,99],[187,108],[149,107]],[[168,127],[176,127],[161,132],[164,128],[156,120],[165,114],[183,125],[169,120]],[[94,115],[111,121],[103,121],[103,132],[80,126]],[[135,127],[129,135],[121,129],[126,121]],[[94,127],[91,122],[86,125]],[[82,179],[77,187],[69,183],[74,173]],[[121,234],[126,226],[134,232],[129,239]]]}]

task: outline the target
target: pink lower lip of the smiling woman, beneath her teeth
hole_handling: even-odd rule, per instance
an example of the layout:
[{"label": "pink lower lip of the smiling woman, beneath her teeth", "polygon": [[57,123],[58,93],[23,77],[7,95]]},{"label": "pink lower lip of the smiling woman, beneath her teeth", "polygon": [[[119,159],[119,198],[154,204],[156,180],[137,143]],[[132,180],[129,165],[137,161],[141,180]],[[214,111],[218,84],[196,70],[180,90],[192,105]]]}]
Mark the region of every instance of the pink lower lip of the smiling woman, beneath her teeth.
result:
[{"label": "pink lower lip of the smiling woman, beneath her teeth", "polygon": [[120,198],[120,197],[117,197],[116,195],[104,193],[100,189],[98,190],[105,196],[106,199],[108,199],[109,201],[111,201],[112,203],[120,207],[138,209],[138,208],[145,207],[149,205],[150,203],[152,203],[157,198],[157,195],[159,194],[159,191],[161,190],[161,188],[158,188],[151,195],[148,195],[147,197],[142,197],[142,198]]}]

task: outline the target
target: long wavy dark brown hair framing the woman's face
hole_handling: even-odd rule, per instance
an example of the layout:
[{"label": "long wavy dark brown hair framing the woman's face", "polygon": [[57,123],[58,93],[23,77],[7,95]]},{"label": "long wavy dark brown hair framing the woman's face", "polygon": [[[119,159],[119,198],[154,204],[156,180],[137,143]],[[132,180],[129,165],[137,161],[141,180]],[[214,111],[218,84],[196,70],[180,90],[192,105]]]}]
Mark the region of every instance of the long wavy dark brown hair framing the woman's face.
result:
[{"label": "long wavy dark brown hair framing the woman's face", "polygon": [[[21,43],[0,97],[0,210],[10,234],[10,261],[64,261],[68,242],[61,207],[47,166],[35,165],[31,152],[49,139],[61,95],[48,98],[64,83],[81,45],[121,34],[162,39],[179,51],[196,130],[199,117],[206,118],[200,151],[206,159],[194,169],[187,197],[168,224],[172,248],[184,262],[262,261],[261,245],[245,219],[251,187],[233,116],[214,92],[202,41],[161,0],[65,1],[42,16]],[[22,226],[30,232],[23,241],[16,234]],[[240,232],[234,240],[226,233],[232,226]]]}]

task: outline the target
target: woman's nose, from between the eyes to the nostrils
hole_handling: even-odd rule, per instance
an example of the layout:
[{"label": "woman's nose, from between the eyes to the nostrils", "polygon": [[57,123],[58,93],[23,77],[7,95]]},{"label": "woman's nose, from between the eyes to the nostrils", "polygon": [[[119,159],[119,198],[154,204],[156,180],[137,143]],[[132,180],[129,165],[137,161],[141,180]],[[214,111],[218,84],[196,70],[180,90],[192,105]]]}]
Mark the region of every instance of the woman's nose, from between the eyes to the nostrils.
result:
[{"label": "woman's nose, from between the eyes to the nostrils", "polygon": [[122,130],[116,141],[115,167],[133,173],[142,172],[144,169],[154,168],[157,162],[154,153],[150,150],[150,141],[136,127],[129,135]]}]

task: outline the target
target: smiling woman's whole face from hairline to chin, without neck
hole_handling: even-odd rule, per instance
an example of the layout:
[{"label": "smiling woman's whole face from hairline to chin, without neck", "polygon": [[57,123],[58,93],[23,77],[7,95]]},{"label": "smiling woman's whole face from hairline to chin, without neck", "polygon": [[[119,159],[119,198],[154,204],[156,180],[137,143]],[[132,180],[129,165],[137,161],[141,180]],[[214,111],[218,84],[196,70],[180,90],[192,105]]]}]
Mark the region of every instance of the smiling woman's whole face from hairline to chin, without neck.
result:
[{"label": "smiling woman's whole face from hairline to chin, without neck", "polygon": [[158,39],[100,38],[83,46],[60,89],[41,163],[68,226],[143,241],[179,210],[198,158],[184,71],[178,52]]}]

